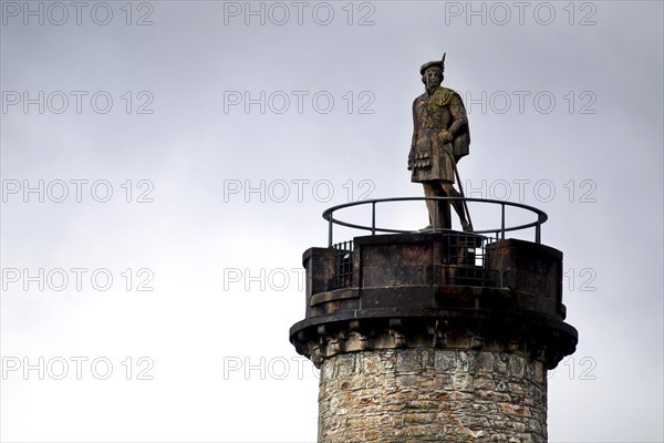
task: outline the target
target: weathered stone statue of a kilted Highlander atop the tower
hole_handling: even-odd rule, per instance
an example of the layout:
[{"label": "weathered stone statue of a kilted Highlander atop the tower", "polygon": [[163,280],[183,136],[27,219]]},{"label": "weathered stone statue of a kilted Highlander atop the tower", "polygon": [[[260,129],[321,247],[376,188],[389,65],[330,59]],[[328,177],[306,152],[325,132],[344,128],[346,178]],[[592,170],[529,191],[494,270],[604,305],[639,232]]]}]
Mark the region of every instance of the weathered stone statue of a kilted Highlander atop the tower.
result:
[{"label": "weathered stone statue of a kilted Highlander atop the tower", "polygon": [[[470,133],[466,109],[459,94],[443,83],[445,55],[443,60],[422,65],[419,73],[425,85],[424,94],[413,102],[414,132],[408,171],[412,171],[411,182],[424,185],[426,197],[461,197],[455,187],[456,163],[468,154]],[[460,179],[459,188],[463,192]],[[453,200],[452,205],[459,216],[464,231],[473,231],[473,226],[466,218],[465,202]],[[440,228],[452,228],[449,202],[427,200],[429,225]]]}]

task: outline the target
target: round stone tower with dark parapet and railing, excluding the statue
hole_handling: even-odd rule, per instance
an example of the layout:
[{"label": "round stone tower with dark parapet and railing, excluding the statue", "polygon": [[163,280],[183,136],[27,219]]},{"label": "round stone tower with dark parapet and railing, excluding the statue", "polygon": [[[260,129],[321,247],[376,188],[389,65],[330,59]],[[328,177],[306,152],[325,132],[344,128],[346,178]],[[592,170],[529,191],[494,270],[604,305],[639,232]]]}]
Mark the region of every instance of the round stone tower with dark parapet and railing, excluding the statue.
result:
[{"label": "round stone tower with dark parapet and railing, excluding the statue", "polygon": [[[546,442],[547,369],[578,341],[562,253],[539,241],[546,214],[526,207],[538,222],[495,236],[373,222],[332,245],[340,208],[324,214],[330,247],[303,255],[305,318],[290,330],[321,370],[319,442]],[[505,238],[521,227],[536,240]]]}]

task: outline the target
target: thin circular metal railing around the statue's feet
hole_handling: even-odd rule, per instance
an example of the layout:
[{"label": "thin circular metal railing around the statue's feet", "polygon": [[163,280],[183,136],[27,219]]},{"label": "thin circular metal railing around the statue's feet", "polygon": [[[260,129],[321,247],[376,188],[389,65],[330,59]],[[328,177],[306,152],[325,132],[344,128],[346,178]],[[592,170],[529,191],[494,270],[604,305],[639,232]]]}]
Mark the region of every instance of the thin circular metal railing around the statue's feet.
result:
[{"label": "thin circular metal railing around the statue's feet", "polygon": [[[343,205],[338,205],[338,206],[333,206],[331,208],[325,209],[325,212],[323,212],[323,218],[325,220],[328,220],[328,224],[329,224],[328,225],[328,246],[332,247],[332,245],[333,245],[333,226],[334,225],[345,226],[349,228],[361,229],[361,230],[370,230],[371,235],[375,235],[376,233],[409,234],[409,233],[418,231],[418,229],[393,229],[393,228],[376,226],[376,205],[377,204],[388,204],[388,203],[393,203],[393,202],[414,202],[414,200],[443,200],[443,202],[450,202],[450,203],[453,200],[463,200],[463,202],[467,202],[467,203],[471,202],[471,203],[481,203],[481,204],[489,204],[489,205],[500,205],[500,226],[499,227],[491,228],[491,229],[474,230],[475,234],[495,234],[496,239],[499,239],[499,238],[505,239],[505,233],[535,228],[535,241],[539,244],[541,241],[541,225],[544,222],[547,222],[547,219],[549,218],[543,210],[540,210],[532,206],[523,205],[521,203],[494,200],[494,199],[486,199],[486,198],[465,198],[465,197],[376,198],[376,199],[371,199],[371,200],[345,203]],[[354,223],[344,222],[339,218],[334,218],[335,212],[339,212],[339,210],[347,208],[347,207],[361,206],[361,205],[371,205],[372,206],[370,225],[359,225],[359,224],[354,224]],[[536,220],[531,222],[531,223],[526,223],[522,225],[506,226],[505,225],[506,207],[516,207],[519,209],[528,210],[537,216]],[[434,220],[433,230],[434,231],[443,230],[443,228],[439,228],[437,226],[437,220]]]}]

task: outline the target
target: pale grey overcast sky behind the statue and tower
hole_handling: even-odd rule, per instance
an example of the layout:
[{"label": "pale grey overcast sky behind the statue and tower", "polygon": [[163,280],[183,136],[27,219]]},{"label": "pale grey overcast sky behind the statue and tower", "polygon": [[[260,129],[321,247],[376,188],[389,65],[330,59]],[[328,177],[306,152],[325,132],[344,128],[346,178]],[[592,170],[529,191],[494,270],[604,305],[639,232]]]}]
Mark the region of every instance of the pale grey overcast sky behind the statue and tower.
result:
[{"label": "pale grey overcast sky behind the statue and tower", "polygon": [[326,207],[422,195],[443,52],[466,193],[547,212],[564,254],[550,441],[664,439],[661,1],[1,7],[3,441],[315,441],[301,256]]}]

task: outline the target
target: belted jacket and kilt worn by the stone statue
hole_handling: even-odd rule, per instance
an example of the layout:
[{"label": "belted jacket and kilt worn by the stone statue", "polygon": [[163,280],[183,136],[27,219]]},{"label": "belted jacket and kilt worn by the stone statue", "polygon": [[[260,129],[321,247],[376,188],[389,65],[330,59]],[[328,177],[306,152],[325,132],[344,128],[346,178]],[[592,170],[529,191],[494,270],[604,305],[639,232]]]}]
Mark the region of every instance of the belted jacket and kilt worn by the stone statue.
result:
[{"label": "belted jacket and kilt worn by the stone statue", "polygon": [[[459,94],[438,87],[433,94],[424,93],[413,102],[413,142],[408,165],[412,182],[446,181],[454,183],[454,162],[468,154],[470,133],[468,117]],[[453,136],[443,143],[443,130]]]}]

